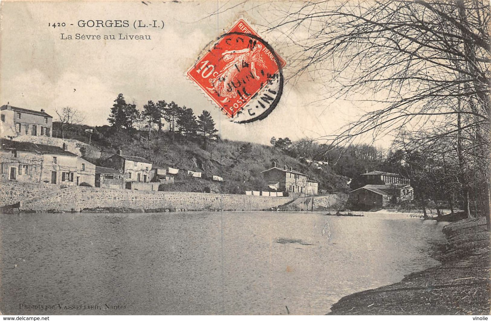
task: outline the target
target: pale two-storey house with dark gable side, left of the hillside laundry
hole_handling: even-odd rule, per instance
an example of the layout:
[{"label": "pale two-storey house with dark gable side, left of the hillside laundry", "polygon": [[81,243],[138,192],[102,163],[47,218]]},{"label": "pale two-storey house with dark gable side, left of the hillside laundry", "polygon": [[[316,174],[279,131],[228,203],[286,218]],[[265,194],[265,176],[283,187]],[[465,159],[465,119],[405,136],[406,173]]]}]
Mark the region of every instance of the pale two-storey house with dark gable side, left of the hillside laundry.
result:
[{"label": "pale two-storey house with dark gable side, left of the hillside laundry", "polygon": [[143,157],[121,155],[118,150],[104,164],[123,173],[125,182],[148,183],[152,180],[152,162]]}]

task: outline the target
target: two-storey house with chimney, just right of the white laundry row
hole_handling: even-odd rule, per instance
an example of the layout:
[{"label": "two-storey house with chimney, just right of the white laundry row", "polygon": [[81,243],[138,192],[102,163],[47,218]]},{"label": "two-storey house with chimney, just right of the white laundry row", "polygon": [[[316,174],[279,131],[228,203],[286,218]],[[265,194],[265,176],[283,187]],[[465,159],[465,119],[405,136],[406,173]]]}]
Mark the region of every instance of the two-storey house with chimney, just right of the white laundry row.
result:
[{"label": "two-storey house with chimney, just right of the white laundry row", "polygon": [[305,194],[307,190],[307,175],[293,170],[292,167],[288,169],[285,165],[284,168],[279,168],[276,167],[276,162],[273,162],[272,167],[262,173],[264,179],[268,181],[268,186],[277,191]]}]

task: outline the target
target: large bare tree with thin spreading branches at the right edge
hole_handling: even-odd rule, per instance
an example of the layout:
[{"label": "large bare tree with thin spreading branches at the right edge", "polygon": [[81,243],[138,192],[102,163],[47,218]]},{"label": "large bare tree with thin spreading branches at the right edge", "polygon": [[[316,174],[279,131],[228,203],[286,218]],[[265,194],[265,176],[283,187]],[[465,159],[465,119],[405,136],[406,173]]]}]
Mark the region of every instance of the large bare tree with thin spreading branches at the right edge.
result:
[{"label": "large bare tree with thin spreading branches at the right edge", "polygon": [[[489,3],[319,1],[276,10],[280,18],[270,30],[280,30],[298,49],[290,57],[290,80],[308,73],[323,80],[328,98],[355,94],[374,106],[340,132],[321,137],[327,146],[400,129],[416,134],[413,148],[453,139],[463,193],[470,185],[488,186],[480,197],[490,224]],[[481,181],[464,179],[469,166],[482,173]]]}]

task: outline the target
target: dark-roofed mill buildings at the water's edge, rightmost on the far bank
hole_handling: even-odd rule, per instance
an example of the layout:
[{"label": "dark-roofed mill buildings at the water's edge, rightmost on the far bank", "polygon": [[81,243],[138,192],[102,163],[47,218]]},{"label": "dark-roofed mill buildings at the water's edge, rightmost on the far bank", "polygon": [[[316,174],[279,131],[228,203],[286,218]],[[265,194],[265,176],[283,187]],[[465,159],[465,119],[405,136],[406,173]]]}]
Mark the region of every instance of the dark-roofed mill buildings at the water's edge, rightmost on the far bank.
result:
[{"label": "dark-roofed mill buildings at the water's edge, rightmost on the far bank", "polygon": [[359,209],[384,208],[390,203],[412,201],[414,189],[399,174],[373,171],[361,174],[365,186],[350,192],[350,203]]}]

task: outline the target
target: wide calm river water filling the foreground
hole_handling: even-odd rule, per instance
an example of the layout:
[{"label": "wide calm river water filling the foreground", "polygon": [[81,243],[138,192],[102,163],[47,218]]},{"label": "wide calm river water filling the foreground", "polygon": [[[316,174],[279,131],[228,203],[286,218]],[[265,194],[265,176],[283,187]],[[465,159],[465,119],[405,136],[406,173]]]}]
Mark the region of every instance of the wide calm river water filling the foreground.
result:
[{"label": "wide calm river water filling the foreground", "polygon": [[0,311],[325,314],[344,295],[437,265],[443,224],[373,213],[2,214]]}]

